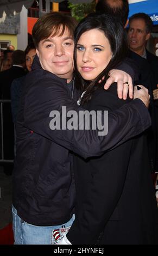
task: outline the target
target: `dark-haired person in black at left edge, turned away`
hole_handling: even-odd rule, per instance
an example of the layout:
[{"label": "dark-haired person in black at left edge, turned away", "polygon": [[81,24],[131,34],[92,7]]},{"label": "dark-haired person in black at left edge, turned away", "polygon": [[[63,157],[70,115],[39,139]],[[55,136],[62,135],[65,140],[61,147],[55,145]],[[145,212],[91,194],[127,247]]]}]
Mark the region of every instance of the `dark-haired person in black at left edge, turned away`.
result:
[{"label": "dark-haired person in black at left edge, turned away", "polygon": [[[24,70],[24,67],[26,66],[24,51],[16,50],[11,54],[11,68],[0,72],[0,98],[2,100],[11,99],[10,88],[12,81],[17,77],[26,74],[26,71]],[[4,160],[14,160],[14,124],[12,123],[10,103],[3,103],[3,143]],[[13,168],[12,163],[3,163],[3,167],[6,174],[11,174]]]}]

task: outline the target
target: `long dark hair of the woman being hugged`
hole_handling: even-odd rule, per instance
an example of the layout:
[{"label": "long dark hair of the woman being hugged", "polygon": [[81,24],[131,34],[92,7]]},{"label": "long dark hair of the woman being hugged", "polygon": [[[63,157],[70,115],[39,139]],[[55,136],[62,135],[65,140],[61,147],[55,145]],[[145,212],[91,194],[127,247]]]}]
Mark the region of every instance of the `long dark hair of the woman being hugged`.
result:
[{"label": "long dark hair of the woman being hugged", "polygon": [[[81,77],[77,68],[77,43],[80,36],[91,29],[99,29],[104,32],[106,38],[109,40],[112,58],[106,66],[106,68],[92,81],[87,85],[87,82]],[[128,52],[128,42],[127,42],[127,33],[122,25],[122,23],[115,19],[115,17],[105,15],[105,14],[90,14],[85,17],[74,32],[74,69],[75,69],[75,86],[77,89],[86,93],[81,99],[81,104],[83,105],[85,102],[91,99],[92,93],[98,89],[102,88],[103,84],[109,77],[109,71],[111,69],[115,69],[116,66],[127,56]],[[103,77],[104,81],[102,84],[98,83]]]}]

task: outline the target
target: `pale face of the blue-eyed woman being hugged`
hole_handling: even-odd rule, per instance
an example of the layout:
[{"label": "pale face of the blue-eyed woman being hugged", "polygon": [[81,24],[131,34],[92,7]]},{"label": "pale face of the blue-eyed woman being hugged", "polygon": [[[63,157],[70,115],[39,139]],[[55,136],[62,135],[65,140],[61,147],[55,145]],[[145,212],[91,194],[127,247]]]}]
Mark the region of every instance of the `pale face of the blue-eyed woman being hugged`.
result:
[{"label": "pale face of the blue-eyed woman being hugged", "polygon": [[80,36],[77,44],[77,66],[85,80],[94,80],[106,68],[111,57],[110,43],[104,32],[91,29]]}]

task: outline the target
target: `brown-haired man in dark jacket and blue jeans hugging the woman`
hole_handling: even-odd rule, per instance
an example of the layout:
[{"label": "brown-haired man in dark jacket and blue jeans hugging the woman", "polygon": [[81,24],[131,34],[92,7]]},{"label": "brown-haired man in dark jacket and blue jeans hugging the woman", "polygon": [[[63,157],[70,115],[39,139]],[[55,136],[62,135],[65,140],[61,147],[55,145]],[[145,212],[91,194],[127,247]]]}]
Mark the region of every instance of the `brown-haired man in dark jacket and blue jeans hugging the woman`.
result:
[{"label": "brown-haired man in dark jacket and blue jeans hugging the woman", "polygon": [[[37,56],[24,83],[16,124],[12,207],[15,244],[50,244],[60,228],[72,225],[75,190],[70,151],[85,158],[97,156],[150,125],[148,92],[142,89],[135,97],[146,106],[136,99],[109,113],[107,136],[98,136],[98,129],[50,128],[52,111],[62,114],[63,106],[78,114],[83,111],[77,105],[80,95],[73,78],[75,26],[72,17],[49,13],[33,28]],[[56,233],[52,233],[54,229]]]}]

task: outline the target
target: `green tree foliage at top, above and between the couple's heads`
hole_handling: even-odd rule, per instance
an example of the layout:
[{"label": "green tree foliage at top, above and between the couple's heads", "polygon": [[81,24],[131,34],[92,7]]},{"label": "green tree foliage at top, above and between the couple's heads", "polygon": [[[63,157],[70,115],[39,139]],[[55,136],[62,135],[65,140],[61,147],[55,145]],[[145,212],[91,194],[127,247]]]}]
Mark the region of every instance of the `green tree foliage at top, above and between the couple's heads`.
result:
[{"label": "green tree foliage at top, above and between the couple's heads", "polygon": [[68,8],[71,10],[71,15],[77,21],[82,20],[87,14],[93,13],[96,7],[96,0],[93,0],[92,3],[86,4],[72,4],[68,1]]}]

